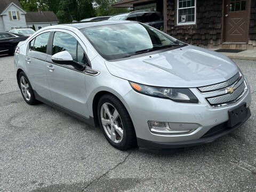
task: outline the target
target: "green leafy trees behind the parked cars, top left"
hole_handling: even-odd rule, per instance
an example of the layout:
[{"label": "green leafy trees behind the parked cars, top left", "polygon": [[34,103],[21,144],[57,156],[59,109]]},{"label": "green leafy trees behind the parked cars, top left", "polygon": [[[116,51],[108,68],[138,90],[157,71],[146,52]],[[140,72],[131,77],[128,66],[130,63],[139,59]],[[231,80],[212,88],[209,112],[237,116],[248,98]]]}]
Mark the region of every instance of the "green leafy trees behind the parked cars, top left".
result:
[{"label": "green leafy trees behind the parked cars, top left", "polygon": [[[20,0],[25,11],[53,11],[60,23],[80,21],[96,16],[126,13],[126,8],[111,7],[117,0]],[[70,17],[71,15],[71,17]]]}]

